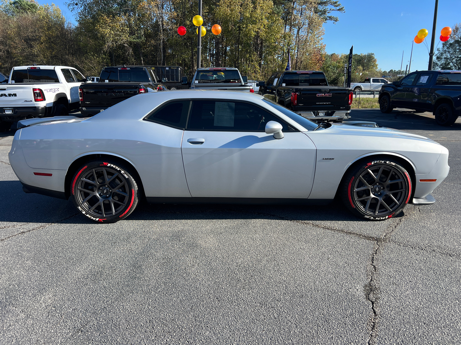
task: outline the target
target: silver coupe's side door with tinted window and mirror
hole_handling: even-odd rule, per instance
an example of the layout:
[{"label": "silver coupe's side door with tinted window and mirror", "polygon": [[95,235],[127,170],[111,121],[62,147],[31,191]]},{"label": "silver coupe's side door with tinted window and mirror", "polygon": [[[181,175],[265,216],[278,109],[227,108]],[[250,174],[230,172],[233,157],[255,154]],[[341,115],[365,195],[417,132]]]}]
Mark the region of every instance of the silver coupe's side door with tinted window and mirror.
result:
[{"label": "silver coupe's side door with tinted window and mirror", "polygon": [[[269,121],[284,138],[265,133]],[[252,103],[194,100],[181,147],[193,197],[307,198],[312,189],[312,141]]]}]

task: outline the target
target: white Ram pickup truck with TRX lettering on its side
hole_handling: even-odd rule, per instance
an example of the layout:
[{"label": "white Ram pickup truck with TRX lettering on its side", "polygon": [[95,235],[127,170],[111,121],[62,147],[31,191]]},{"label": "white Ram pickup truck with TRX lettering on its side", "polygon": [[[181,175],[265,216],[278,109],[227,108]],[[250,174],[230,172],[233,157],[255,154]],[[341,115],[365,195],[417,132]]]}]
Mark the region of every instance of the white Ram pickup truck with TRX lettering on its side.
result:
[{"label": "white Ram pickup truck with TRX lettering on its side", "polygon": [[0,132],[19,120],[63,116],[80,108],[78,86],[84,81],[67,66],[13,67],[8,83],[0,84]]}]

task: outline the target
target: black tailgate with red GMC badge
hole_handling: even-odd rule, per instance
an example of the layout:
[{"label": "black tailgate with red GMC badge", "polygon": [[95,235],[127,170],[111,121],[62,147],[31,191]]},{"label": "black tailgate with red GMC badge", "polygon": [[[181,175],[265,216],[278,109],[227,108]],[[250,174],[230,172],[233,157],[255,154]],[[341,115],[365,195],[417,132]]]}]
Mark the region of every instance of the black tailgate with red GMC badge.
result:
[{"label": "black tailgate with red GMC badge", "polygon": [[298,91],[298,106],[328,110],[349,104],[349,91],[334,88],[303,88]]}]

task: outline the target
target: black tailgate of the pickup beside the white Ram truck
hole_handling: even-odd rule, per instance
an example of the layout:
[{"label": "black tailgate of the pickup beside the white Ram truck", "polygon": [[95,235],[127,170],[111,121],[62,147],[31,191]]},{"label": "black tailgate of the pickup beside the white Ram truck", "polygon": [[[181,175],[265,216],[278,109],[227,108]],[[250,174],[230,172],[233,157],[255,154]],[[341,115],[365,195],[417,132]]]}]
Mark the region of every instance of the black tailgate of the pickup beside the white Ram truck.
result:
[{"label": "black tailgate of the pickup beside the white Ram truck", "polygon": [[82,85],[83,105],[110,107],[139,93],[139,84],[91,83]]}]

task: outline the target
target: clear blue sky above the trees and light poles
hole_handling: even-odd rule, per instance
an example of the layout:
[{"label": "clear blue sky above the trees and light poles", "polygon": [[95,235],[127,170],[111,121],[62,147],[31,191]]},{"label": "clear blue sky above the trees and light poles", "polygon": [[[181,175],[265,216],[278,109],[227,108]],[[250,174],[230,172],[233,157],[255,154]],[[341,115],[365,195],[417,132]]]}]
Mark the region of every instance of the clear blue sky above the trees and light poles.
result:
[{"label": "clear blue sky above the trees and light poles", "polygon": [[[40,1],[45,4],[45,1]],[[435,0],[341,0],[345,13],[339,13],[339,22],[326,23],[324,43],[328,53],[372,52],[383,70],[403,69],[409,64],[411,42],[419,29],[427,29],[426,43],[431,45]],[[73,13],[64,0],[54,1],[66,19],[75,23]],[[436,43],[440,29],[461,22],[461,0],[439,0]],[[439,46],[442,44],[440,43]],[[411,70],[427,69],[429,54],[424,43],[414,44]]]}]

